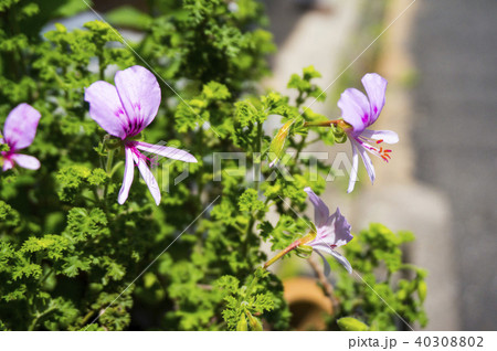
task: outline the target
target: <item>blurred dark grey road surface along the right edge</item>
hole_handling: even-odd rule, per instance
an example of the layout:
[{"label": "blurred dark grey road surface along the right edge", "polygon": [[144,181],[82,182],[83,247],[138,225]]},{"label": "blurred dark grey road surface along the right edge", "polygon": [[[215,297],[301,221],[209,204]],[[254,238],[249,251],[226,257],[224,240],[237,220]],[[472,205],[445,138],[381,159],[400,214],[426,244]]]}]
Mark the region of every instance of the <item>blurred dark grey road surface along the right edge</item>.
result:
[{"label": "blurred dark grey road surface along the right edge", "polygon": [[497,2],[419,2],[415,177],[453,209],[462,328],[496,330]]}]

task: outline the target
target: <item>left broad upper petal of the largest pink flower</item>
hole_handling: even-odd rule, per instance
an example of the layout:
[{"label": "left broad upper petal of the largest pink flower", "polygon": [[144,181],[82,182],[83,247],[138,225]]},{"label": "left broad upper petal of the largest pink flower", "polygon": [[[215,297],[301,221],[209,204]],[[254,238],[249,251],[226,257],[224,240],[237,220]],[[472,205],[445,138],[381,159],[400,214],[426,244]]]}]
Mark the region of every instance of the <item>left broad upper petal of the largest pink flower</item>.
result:
[{"label": "left broad upper petal of the largest pink flower", "polygon": [[85,102],[89,104],[89,116],[98,126],[112,136],[126,138],[129,120],[114,85],[104,81],[93,83],[85,89]]}]

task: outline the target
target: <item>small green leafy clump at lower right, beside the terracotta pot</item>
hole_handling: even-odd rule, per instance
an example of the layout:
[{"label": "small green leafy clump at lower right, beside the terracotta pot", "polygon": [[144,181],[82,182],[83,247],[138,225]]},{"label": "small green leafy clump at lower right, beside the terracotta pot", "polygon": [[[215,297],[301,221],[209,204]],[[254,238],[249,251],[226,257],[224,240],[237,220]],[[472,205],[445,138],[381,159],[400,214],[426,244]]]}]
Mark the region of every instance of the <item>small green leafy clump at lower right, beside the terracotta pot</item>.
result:
[{"label": "small green leafy clump at lower right, beside the terracotta pot", "polygon": [[[370,326],[370,330],[396,330],[408,328],[395,315],[408,323],[426,325],[423,300],[426,294],[426,272],[403,262],[401,245],[412,242],[409,232],[393,233],[384,225],[371,224],[361,231],[348,245],[345,255],[353,262],[353,268],[366,281],[340,273],[335,288],[341,301],[339,316],[353,316]],[[330,262],[337,266],[336,263]],[[378,270],[384,270],[379,275]],[[378,296],[381,296],[385,302]],[[338,322],[341,329],[347,329]]]}]

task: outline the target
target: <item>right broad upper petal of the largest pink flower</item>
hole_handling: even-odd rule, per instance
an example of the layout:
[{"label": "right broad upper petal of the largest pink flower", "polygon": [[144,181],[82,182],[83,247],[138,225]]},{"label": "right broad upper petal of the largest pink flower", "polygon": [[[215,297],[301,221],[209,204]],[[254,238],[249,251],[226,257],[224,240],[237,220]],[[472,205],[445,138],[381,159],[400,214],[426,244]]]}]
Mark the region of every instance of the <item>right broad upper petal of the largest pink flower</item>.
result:
[{"label": "right broad upper petal of the largest pink flower", "polygon": [[117,72],[114,82],[130,119],[128,136],[137,135],[156,118],[160,105],[159,83],[150,71],[141,66]]}]

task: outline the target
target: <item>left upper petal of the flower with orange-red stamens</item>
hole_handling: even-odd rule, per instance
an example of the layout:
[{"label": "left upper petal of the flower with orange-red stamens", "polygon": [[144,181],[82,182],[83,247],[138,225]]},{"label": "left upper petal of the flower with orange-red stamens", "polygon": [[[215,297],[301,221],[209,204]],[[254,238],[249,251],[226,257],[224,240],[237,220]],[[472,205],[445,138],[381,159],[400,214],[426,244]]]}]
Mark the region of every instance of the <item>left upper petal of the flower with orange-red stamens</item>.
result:
[{"label": "left upper petal of the flower with orange-red stamens", "polygon": [[353,135],[360,134],[370,120],[370,107],[364,94],[355,88],[348,88],[341,93],[338,100],[341,117],[352,126]]}]

